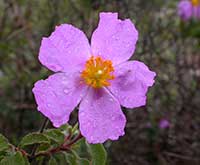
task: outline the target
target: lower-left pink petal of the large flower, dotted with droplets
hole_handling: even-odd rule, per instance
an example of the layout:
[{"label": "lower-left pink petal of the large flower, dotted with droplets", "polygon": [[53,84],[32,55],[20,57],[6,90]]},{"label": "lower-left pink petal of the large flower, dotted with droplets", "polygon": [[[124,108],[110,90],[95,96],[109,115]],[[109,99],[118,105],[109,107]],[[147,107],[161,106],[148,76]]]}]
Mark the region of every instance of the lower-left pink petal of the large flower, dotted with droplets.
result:
[{"label": "lower-left pink petal of the large flower, dotted with droplets", "polygon": [[33,88],[38,111],[55,127],[68,122],[70,113],[85,92],[86,87],[80,82],[78,73],[56,73],[36,82]]}]

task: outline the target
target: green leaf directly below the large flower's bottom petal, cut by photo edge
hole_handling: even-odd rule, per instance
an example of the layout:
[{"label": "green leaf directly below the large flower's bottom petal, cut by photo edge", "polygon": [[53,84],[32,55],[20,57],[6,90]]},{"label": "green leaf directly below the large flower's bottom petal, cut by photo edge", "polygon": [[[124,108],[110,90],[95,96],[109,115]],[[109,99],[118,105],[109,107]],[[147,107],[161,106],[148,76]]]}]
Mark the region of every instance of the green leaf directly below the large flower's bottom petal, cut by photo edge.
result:
[{"label": "green leaf directly below the large flower's bottom petal, cut by photo edge", "polygon": [[103,144],[88,144],[87,146],[92,156],[92,165],[105,165],[107,153]]}]

